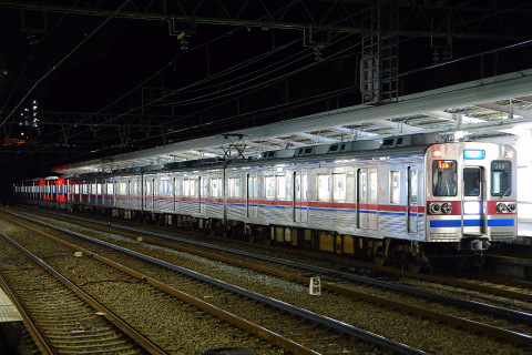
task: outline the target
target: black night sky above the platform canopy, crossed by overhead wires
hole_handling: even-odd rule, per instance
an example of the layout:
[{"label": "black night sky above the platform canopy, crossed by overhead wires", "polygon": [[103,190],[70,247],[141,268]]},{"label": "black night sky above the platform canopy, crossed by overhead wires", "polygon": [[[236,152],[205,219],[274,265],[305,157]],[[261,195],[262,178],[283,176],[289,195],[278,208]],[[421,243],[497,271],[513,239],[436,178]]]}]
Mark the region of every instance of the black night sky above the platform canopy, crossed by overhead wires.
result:
[{"label": "black night sky above the platform canopy, crossed by overhead wires", "polygon": [[[461,4],[446,3],[453,2]],[[518,6],[529,13],[532,8],[522,2],[499,6]],[[475,16],[453,19],[454,30],[478,24],[479,31],[487,31],[490,21],[512,19],[512,13],[510,18]],[[91,119],[105,113],[161,115],[176,132],[171,136],[176,142],[361,103],[359,34],[332,33],[330,43],[316,51],[304,45],[300,30],[198,24],[185,38],[183,50],[183,42],[168,34],[166,22],[50,12],[48,31],[40,33],[42,13],[27,11],[23,19],[24,23],[20,10],[0,7],[0,122],[37,100],[39,111],[57,112],[64,120],[70,112]],[[413,18],[409,23],[422,20]],[[530,27],[532,21],[515,22],[525,33],[518,31],[511,40],[456,38],[452,59],[464,60],[436,69],[427,68],[434,64],[434,48],[446,40],[400,37],[399,70],[409,73],[401,79],[402,94],[530,68],[530,45],[467,59],[526,40],[532,33],[526,23]],[[24,30],[23,24],[33,30]],[[8,171],[45,175],[60,164],[161,144],[156,126],[133,132],[120,146],[114,144],[119,141],[114,131],[69,130],[75,134],[75,148],[53,154],[2,152],[2,176],[11,176]],[[62,138],[57,125],[30,133],[43,148]]]}]

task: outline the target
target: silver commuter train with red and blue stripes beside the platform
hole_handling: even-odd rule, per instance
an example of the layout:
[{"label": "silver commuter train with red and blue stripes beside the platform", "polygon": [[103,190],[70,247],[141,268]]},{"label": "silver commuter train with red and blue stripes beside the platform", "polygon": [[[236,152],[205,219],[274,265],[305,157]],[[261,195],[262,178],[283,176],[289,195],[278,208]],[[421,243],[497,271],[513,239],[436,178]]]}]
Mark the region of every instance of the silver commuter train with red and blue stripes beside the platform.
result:
[{"label": "silver commuter train with red and blue stripes beside the platform", "polygon": [[434,134],[137,168],[68,186],[78,211],[413,267],[513,241],[518,227],[514,149]]}]

